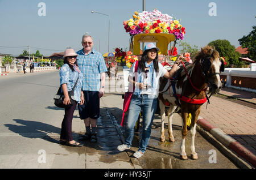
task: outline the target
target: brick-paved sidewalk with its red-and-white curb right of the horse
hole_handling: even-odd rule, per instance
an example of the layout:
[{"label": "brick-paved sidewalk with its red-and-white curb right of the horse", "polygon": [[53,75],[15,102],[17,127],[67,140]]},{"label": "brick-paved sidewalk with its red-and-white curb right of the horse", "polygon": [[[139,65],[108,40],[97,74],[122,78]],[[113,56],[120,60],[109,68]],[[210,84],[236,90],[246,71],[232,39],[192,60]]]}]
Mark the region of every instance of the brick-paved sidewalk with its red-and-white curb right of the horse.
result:
[{"label": "brick-paved sidewalk with its red-and-white curb right of the horse", "polygon": [[[236,144],[232,150],[246,157],[250,164],[255,163],[256,94],[232,88],[222,88],[219,94],[210,97],[210,104],[201,107],[200,117],[203,119],[198,121],[199,125],[209,132],[213,129],[221,131],[219,138],[222,142],[227,142],[229,147]],[[232,101],[233,98],[241,101]]]}]

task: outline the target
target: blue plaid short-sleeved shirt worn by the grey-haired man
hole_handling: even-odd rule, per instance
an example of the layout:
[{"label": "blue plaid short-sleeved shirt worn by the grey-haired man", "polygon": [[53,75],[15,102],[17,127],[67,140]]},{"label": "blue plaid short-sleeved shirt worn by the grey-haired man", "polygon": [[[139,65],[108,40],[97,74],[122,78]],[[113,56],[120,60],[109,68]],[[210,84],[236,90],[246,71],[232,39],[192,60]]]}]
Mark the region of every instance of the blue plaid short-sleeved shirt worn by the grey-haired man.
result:
[{"label": "blue plaid short-sleeved shirt worn by the grey-haired man", "polygon": [[99,91],[101,72],[106,72],[106,63],[101,53],[92,49],[88,55],[85,55],[84,49],[76,52],[77,64],[84,75],[84,80],[82,83],[82,91]]}]

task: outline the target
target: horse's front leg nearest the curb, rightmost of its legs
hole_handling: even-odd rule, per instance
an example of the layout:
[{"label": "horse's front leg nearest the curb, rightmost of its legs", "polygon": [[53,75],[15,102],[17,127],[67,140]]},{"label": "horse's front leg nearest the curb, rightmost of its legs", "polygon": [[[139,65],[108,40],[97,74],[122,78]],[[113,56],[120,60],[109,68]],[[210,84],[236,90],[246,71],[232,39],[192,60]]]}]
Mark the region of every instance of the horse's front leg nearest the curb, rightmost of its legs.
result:
[{"label": "horse's front leg nearest the curb, rightmost of its legs", "polygon": [[192,160],[197,160],[198,156],[195,150],[195,136],[196,136],[196,121],[197,118],[199,116],[200,113],[200,109],[197,110],[195,113],[192,113],[192,118],[191,118],[191,135],[192,135],[192,139],[191,139],[191,158]]}]

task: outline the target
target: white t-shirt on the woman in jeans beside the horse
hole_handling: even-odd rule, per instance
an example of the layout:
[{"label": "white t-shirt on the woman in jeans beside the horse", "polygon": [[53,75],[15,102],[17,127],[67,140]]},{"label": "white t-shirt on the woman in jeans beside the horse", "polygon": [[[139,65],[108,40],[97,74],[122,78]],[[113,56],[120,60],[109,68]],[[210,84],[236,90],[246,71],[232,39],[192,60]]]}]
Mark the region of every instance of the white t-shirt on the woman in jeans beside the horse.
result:
[{"label": "white t-shirt on the woman in jeans beside the horse", "polygon": [[[152,62],[153,63],[153,62]],[[159,67],[159,72],[155,72],[154,70],[154,79],[153,79],[153,83],[154,85],[148,83],[148,82],[152,82],[152,73],[148,72],[147,76],[145,74],[145,72],[140,72],[139,68],[138,68],[138,75],[141,76],[141,79],[139,80],[138,83],[144,83],[144,84],[148,84],[148,88],[147,89],[141,89],[141,95],[146,94],[148,95],[148,98],[157,98],[158,97],[158,93],[159,93],[159,78],[163,77],[164,74],[166,74],[167,70],[163,67],[163,65],[161,63],[158,62],[158,67]],[[131,70],[129,72],[129,76],[134,77],[135,76],[135,63],[133,63],[133,66],[131,66]],[[137,82],[137,79],[135,78],[135,82]],[[135,87],[134,92],[139,92],[139,88]]]}]

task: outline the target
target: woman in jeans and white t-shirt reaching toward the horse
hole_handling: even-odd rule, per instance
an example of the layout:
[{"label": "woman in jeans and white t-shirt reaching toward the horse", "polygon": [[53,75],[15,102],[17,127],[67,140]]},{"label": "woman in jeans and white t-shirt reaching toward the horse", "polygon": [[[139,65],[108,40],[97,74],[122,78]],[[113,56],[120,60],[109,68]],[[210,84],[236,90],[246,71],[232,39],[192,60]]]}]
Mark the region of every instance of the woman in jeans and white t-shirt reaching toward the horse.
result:
[{"label": "woman in jeans and white t-shirt reaching toward the horse", "polygon": [[158,51],[159,48],[152,42],[146,44],[141,61],[138,62],[137,75],[135,75],[135,63],[133,63],[129,73],[129,83],[135,85],[135,89],[131,97],[125,126],[125,144],[118,145],[117,149],[119,151],[130,149],[135,122],[142,109],[143,131],[139,150],[133,154],[136,158],[140,158],[144,154],[150,140],[151,126],[157,108],[159,78],[164,77],[170,79],[177,70],[177,64],[184,58],[181,54],[176,59],[171,71],[168,72],[163,65],[158,62]]}]

